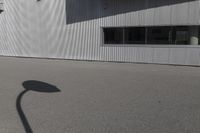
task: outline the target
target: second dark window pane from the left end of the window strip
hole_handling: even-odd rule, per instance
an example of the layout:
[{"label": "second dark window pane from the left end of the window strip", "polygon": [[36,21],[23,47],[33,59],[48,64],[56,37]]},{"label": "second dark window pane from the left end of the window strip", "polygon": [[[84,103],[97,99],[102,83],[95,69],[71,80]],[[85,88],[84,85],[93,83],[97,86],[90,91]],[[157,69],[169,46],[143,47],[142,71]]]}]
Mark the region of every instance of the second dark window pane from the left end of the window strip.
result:
[{"label": "second dark window pane from the left end of the window strip", "polygon": [[125,43],[145,44],[145,28],[144,27],[125,28]]}]

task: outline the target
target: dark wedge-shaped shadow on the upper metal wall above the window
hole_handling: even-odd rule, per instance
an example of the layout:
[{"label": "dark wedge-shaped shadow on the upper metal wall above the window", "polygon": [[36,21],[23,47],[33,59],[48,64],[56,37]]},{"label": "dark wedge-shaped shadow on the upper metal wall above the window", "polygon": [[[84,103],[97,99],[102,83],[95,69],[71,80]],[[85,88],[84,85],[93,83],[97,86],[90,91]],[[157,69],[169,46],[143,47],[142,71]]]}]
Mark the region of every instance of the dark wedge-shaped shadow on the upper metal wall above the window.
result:
[{"label": "dark wedge-shaped shadow on the upper metal wall above the window", "polygon": [[[196,0],[66,0],[66,23],[138,12]],[[187,9],[185,9],[187,10]]]}]

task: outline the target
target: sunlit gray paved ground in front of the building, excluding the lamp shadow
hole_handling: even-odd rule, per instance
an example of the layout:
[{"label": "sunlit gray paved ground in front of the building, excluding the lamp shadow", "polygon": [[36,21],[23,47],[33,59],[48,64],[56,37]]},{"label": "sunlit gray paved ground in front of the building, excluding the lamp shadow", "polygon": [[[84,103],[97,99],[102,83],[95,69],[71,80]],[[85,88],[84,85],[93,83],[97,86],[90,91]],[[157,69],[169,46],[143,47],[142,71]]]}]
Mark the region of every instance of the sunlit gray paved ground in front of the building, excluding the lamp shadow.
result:
[{"label": "sunlit gray paved ground in front of the building, excluding the lamp shadow", "polygon": [[27,80],[61,90],[23,96],[34,133],[200,132],[198,67],[0,57],[0,133],[25,132]]}]

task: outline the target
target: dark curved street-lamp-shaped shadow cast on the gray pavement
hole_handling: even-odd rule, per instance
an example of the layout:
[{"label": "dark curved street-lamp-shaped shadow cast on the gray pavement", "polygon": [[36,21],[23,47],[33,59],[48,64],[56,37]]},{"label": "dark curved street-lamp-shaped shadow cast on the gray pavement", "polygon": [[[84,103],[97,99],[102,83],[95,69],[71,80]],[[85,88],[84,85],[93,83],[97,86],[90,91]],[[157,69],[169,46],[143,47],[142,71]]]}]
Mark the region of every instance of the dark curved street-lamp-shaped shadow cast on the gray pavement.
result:
[{"label": "dark curved street-lamp-shaped shadow cast on the gray pavement", "polygon": [[23,96],[29,92],[29,91],[36,91],[36,92],[43,92],[43,93],[55,93],[55,92],[60,92],[60,90],[51,84],[41,82],[41,81],[36,81],[36,80],[28,80],[24,81],[22,83],[23,87],[25,90],[23,90],[17,97],[16,99],[16,108],[19,114],[19,117],[21,119],[21,122],[23,124],[24,130],[26,133],[33,133],[33,130],[31,129],[31,126],[22,110],[21,106],[21,101]]}]

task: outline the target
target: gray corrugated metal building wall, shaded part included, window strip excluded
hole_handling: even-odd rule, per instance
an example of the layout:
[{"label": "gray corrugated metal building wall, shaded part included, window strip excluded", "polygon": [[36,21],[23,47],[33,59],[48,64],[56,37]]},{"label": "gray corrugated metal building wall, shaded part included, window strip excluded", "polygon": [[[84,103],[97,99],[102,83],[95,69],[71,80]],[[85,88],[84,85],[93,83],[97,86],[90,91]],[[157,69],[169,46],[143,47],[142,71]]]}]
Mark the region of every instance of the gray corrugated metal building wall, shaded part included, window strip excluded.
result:
[{"label": "gray corrugated metal building wall, shaded part included, window strip excluded", "polygon": [[103,46],[101,27],[199,25],[199,0],[6,0],[0,54],[200,65],[199,46]]}]

